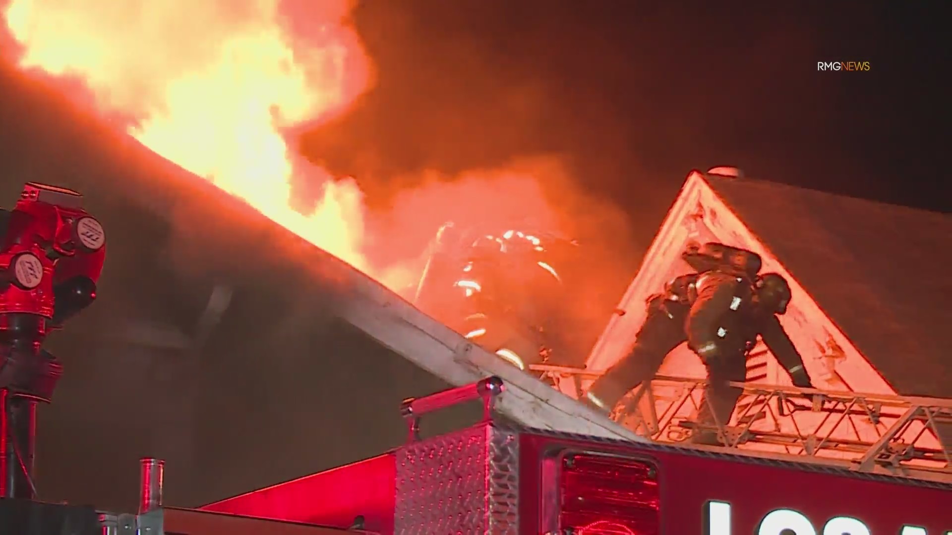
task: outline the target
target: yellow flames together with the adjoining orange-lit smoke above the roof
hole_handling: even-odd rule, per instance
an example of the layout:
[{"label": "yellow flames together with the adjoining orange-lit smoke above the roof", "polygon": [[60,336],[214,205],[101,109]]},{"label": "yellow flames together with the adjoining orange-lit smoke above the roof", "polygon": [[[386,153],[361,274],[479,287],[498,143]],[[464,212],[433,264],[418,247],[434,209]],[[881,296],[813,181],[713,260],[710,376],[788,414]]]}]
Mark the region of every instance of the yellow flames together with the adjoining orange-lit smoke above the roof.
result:
[{"label": "yellow flames together with the adjoining orange-lit smoke above the roof", "polygon": [[[371,61],[348,18],[352,1],[4,1],[0,14],[24,72],[390,289],[415,293],[426,248],[447,221],[493,228],[487,238],[500,250],[545,252],[525,228],[505,231],[531,222],[585,243],[583,263],[533,269],[578,280],[573,287],[585,296],[560,306],[579,331],[604,327],[621,289],[608,281],[628,278],[618,246],[629,242],[625,222],[557,158],[516,157],[455,176],[422,168],[373,177],[374,200],[385,202],[370,211],[355,180],[288,148],[297,132],[341,118],[370,87]],[[295,188],[313,185],[322,194],[303,208]]]}]

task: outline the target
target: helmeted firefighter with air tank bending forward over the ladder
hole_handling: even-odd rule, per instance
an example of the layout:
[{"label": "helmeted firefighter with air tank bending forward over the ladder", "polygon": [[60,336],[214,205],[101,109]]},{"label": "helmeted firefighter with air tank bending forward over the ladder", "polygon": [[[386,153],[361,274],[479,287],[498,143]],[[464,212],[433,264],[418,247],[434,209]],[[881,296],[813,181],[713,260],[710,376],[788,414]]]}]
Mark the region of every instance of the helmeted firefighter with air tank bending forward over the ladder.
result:
[{"label": "helmeted firefighter with air tank bending forward over the ladder", "polygon": [[[811,387],[803,358],[790,342],[778,315],[790,302],[790,287],[783,276],[765,273],[753,282],[742,273],[713,269],[698,279],[697,298],[688,313],[688,346],[707,367],[699,426],[724,426],[743,390],[730,382],[746,379],[747,353],[758,336],[790,374],[794,386]],[[700,430],[692,436],[699,444],[720,444],[717,432]]]}]

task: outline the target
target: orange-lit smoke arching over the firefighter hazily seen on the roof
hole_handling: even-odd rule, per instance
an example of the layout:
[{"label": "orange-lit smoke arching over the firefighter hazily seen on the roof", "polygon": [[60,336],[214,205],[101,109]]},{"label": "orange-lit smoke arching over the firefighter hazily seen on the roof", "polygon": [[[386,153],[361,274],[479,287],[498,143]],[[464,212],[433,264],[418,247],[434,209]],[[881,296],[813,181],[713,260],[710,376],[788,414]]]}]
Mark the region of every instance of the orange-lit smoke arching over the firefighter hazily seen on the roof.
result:
[{"label": "orange-lit smoke arching over the firefighter hazily seen on the roof", "polygon": [[[407,186],[411,180],[413,186]],[[398,177],[390,187],[395,189],[387,192],[390,205],[368,221],[367,235],[375,241],[367,252],[371,263],[408,274],[407,282],[419,277],[422,253],[446,222],[496,232],[509,222],[527,221],[579,242],[579,254],[554,268],[572,281],[572,298],[558,304],[561,313],[574,319],[573,330],[589,347],[636,268],[625,213],[585,191],[556,157],[522,158],[453,177],[428,171],[422,177]],[[574,360],[584,362],[585,355]]]}]

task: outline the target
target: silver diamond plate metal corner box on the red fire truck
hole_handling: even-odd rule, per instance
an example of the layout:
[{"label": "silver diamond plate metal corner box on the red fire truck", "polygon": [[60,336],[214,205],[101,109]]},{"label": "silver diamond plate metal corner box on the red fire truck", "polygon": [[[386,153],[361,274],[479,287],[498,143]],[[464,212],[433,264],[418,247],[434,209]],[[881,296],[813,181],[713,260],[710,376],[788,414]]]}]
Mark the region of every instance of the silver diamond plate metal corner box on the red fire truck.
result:
[{"label": "silver diamond plate metal corner box on the red fire truck", "polygon": [[397,451],[398,535],[518,535],[518,440],[486,423]]}]

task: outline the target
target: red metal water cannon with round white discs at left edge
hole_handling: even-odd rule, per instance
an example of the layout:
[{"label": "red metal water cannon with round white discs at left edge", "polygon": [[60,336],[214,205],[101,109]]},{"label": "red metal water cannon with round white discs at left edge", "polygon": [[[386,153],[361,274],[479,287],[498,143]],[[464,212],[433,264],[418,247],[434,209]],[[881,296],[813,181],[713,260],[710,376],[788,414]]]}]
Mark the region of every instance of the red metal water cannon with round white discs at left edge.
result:
[{"label": "red metal water cannon with round white discs at left edge", "polygon": [[95,299],[106,235],[81,194],[36,183],[0,219],[0,496],[32,499],[36,403],[62,373],[41,346]]}]

